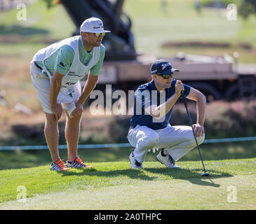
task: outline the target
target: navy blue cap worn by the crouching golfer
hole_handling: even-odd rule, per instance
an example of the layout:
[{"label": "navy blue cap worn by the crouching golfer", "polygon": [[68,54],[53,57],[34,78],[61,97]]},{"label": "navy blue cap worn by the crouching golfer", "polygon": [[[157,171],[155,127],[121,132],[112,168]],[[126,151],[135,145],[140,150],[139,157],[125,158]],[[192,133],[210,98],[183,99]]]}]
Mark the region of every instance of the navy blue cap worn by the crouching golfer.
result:
[{"label": "navy blue cap worn by the crouching golfer", "polygon": [[151,65],[151,74],[161,74],[161,75],[169,75],[173,72],[179,72],[178,69],[173,69],[173,66],[170,64],[170,62],[163,60],[163,59],[158,59],[156,62],[154,62]]}]

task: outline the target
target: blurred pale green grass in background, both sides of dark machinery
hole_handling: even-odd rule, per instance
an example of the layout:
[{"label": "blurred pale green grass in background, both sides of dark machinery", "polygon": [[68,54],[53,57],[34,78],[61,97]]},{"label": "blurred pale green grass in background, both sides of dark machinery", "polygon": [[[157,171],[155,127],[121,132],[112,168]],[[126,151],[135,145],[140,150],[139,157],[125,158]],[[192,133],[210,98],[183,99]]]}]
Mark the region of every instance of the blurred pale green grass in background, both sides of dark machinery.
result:
[{"label": "blurred pale green grass in background, both sides of dark machinery", "polygon": [[[147,4],[147,8],[144,5]],[[245,50],[238,43],[256,47],[256,20],[250,16],[243,20],[229,21],[216,10],[203,8],[196,13],[192,0],[168,0],[165,9],[161,1],[125,1],[123,10],[132,20],[135,48],[144,55],[170,57],[177,52],[202,55],[240,53],[240,62],[255,63],[255,50]],[[32,57],[36,50],[48,45],[45,41],[67,38],[76,29],[62,5],[47,9],[46,3],[37,1],[27,6],[27,20],[18,21],[18,10],[0,15],[0,39],[20,38],[20,43],[4,43],[0,56],[19,55]],[[163,48],[163,43],[173,41],[215,41],[231,43],[231,48]]]}]

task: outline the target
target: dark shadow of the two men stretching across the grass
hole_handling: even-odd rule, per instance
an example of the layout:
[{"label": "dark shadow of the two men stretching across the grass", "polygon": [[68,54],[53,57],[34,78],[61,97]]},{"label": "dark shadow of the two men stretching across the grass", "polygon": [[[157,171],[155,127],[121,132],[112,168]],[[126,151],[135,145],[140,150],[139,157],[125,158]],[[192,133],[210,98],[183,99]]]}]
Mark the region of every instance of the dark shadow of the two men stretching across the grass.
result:
[{"label": "dark shadow of the two men stretching across the grass", "polygon": [[[166,168],[145,168],[145,169],[121,169],[115,171],[97,171],[95,168],[83,169],[81,172],[59,172],[62,176],[102,176],[102,177],[115,177],[115,176],[128,176],[130,179],[139,179],[140,181],[154,181],[157,179],[182,179],[189,181],[190,183],[201,185],[201,186],[211,186],[214,188],[219,188],[220,185],[214,183],[214,179],[220,179],[224,177],[231,177],[232,175],[226,172],[217,172],[216,170],[208,170],[210,176],[201,176],[201,169],[166,169]],[[154,174],[153,176],[151,174]],[[159,177],[159,175],[161,175]],[[207,181],[207,180],[210,180]]]}]

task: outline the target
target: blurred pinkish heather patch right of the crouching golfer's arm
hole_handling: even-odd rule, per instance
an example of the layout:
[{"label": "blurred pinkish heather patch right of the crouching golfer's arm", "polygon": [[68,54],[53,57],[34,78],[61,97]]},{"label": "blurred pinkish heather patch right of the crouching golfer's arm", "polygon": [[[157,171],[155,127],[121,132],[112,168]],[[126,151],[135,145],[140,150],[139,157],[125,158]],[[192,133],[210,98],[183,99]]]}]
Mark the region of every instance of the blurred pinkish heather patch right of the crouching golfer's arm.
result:
[{"label": "blurred pinkish heather patch right of the crouching golfer's arm", "polygon": [[208,137],[250,137],[256,135],[256,101],[213,102],[208,105]]}]

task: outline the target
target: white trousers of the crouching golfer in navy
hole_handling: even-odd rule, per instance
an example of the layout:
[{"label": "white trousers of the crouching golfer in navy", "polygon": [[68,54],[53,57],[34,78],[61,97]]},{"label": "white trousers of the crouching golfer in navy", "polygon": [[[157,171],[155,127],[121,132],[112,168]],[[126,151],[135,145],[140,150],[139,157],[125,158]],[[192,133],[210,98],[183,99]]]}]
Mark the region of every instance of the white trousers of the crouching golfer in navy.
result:
[{"label": "white trousers of the crouching golfer in navy", "polygon": [[[196,137],[198,144],[205,139]],[[147,126],[137,125],[128,133],[128,141],[135,148],[133,154],[137,162],[144,162],[147,152],[151,148],[165,148],[169,155],[175,160],[180,160],[196,147],[194,134],[190,126],[170,126],[161,130],[152,130]]]}]

